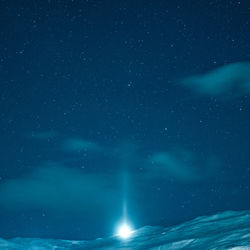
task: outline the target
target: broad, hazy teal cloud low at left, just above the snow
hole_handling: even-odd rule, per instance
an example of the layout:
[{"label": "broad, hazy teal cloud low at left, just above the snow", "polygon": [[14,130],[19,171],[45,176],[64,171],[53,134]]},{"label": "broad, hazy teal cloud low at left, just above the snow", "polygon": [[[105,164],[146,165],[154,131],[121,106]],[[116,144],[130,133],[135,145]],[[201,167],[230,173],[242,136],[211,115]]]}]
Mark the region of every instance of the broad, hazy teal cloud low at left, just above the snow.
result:
[{"label": "broad, hazy teal cloud low at left, just above the snow", "polygon": [[114,182],[109,176],[46,164],[3,182],[0,185],[0,206],[55,212],[102,210],[117,197],[116,188],[111,183]]}]

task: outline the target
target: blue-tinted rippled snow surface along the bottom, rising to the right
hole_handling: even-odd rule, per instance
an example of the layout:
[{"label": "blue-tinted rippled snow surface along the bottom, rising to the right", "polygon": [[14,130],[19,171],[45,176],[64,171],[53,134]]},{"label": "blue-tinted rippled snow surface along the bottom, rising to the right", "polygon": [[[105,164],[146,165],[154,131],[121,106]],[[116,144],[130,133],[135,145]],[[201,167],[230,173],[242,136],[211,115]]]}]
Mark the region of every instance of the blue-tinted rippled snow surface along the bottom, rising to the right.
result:
[{"label": "blue-tinted rippled snow surface along the bottom, rising to the right", "polygon": [[250,211],[227,211],[167,228],[146,226],[125,241],[116,236],[93,241],[0,238],[0,249],[250,249]]}]

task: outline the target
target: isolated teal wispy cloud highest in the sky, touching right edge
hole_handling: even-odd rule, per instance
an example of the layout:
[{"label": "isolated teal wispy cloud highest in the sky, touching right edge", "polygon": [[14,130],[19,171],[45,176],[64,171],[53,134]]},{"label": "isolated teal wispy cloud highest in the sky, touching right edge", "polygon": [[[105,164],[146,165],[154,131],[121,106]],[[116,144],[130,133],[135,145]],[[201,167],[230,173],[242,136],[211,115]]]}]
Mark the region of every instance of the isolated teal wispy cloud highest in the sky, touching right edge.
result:
[{"label": "isolated teal wispy cloud highest in the sky, touching right edge", "polygon": [[192,75],[182,84],[199,94],[236,97],[250,93],[250,62],[237,62],[204,74]]}]

